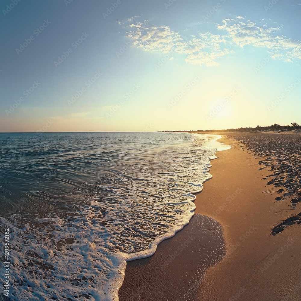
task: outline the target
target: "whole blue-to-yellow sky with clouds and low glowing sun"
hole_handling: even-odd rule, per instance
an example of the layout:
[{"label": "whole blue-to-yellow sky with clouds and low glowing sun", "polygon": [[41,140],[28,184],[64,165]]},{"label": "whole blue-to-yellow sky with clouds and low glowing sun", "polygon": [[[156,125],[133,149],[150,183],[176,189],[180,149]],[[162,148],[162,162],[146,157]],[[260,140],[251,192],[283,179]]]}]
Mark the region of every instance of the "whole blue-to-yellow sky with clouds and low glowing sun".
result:
[{"label": "whole blue-to-yellow sky with clouds and low glowing sun", "polygon": [[301,123],[301,0],[3,0],[0,132]]}]

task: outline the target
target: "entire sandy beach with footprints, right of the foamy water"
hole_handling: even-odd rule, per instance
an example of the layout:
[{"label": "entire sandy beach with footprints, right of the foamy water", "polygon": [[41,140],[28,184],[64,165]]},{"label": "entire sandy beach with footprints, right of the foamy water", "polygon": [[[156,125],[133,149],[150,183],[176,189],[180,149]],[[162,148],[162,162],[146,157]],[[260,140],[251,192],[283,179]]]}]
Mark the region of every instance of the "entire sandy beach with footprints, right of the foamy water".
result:
[{"label": "entire sandy beach with footprints, right of the foamy water", "polygon": [[127,263],[120,301],[301,300],[299,137],[264,135],[219,140],[233,148],[211,161],[195,216],[154,256]]}]

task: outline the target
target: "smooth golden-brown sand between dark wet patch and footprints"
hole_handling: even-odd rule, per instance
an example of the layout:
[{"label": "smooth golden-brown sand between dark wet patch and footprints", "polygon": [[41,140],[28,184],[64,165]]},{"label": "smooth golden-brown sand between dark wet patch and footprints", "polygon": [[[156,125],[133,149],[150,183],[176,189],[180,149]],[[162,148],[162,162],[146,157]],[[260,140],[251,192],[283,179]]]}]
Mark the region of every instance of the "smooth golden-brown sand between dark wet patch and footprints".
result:
[{"label": "smooth golden-brown sand between dark wet patch and footprints", "polygon": [[[217,214],[222,208],[215,218],[225,231],[227,255],[208,271],[196,300],[286,300],[292,287],[301,280],[297,272],[299,264],[293,260],[300,250],[299,229],[292,226],[280,235],[271,235],[273,225],[285,219],[288,212],[271,209],[279,195],[267,185],[266,177],[271,171],[260,170],[259,158],[240,145],[239,141],[232,142],[231,155],[219,154],[212,182],[200,195],[203,214]],[[238,175],[225,182],[222,170]],[[213,202],[210,189],[216,185],[224,191],[220,199],[235,193],[235,187],[243,191],[233,199]],[[300,293],[296,290],[290,297],[300,300]]]}]

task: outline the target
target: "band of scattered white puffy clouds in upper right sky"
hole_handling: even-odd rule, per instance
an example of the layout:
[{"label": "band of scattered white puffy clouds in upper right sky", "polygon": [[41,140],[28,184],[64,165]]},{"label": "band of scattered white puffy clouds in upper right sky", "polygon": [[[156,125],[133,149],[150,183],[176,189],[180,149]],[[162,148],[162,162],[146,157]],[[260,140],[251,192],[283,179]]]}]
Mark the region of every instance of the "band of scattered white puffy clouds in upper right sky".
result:
[{"label": "band of scattered white puffy clouds in upper right sky", "polygon": [[234,53],[233,46],[264,48],[272,58],[289,62],[301,59],[300,41],[279,35],[280,27],[258,26],[240,16],[217,24],[220,34],[200,33],[189,39],[181,37],[169,26],[149,25],[148,21],[139,22],[137,17],[119,24],[126,27],[133,46],[144,51],[182,54],[186,62],[200,66],[219,65],[220,57]]}]

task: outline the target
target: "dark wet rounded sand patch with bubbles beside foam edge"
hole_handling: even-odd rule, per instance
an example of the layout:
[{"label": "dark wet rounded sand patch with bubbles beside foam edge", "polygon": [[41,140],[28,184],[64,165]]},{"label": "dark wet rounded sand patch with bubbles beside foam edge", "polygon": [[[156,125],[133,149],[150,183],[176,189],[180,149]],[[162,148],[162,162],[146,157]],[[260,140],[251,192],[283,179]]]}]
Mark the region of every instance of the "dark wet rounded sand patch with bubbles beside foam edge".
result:
[{"label": "dark wet rounded sand patch with bubbles beside foam edge", "polygon": [[195,214],[189,225],[159,244],[153,256],[127,262],[119,300],[193,300],[206,270],[224,255],[221,225]]}]

